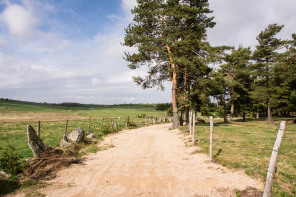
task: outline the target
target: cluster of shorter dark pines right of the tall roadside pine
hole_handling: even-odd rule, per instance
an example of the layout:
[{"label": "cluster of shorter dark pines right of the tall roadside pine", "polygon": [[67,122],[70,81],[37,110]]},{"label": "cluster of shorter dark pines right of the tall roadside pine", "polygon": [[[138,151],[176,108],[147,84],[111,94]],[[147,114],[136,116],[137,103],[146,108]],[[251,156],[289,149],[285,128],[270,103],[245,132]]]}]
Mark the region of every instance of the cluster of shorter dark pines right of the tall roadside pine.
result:
[{"label": "cluster of shorter dark pines right of the tall roadside pine", "polygon": [[[270,24],[257,36],[254,51],[239,46],[223,58],[225,64],[215,71],[214,80],[220,78],[220,104],[224,107],[224,121],[231,121],[234,114],[246,111],[267,116],[290,115],[296,111],[296,34],[291,40],[281,40],[276,35],[283,26]],[[214,73],[214,72],[212,72]],[[219,83],[215,84],[216,88]],[[230,117],[227,119],[226,100]],[[236,110],[235,110],[236,109]],[[236,111],[236,112],[235,112]]]}]

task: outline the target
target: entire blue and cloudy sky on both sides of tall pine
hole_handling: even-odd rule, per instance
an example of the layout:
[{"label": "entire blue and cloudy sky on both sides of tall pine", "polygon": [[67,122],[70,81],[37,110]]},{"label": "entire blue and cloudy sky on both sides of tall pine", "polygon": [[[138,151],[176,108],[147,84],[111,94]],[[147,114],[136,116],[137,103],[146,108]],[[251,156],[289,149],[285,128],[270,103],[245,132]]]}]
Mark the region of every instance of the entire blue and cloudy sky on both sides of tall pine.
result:
[{"label": "entire blue and cloudy sky on both sides of tall pine", "polygon": [[[208,41],[257,44],[268,24],[296,33],[295,0],[209,0],[214,11]],[[93,104],[171,102],[165,91],[141,89],[123,59],[124,28],[136,0],[0,0],[0,98]]]}]

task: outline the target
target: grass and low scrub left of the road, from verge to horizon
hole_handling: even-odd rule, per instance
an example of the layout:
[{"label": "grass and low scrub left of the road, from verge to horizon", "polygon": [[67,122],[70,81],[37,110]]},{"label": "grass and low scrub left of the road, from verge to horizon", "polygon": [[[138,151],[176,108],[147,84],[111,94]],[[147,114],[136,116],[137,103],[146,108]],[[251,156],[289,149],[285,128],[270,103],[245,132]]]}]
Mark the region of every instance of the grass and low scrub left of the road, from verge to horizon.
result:
[{"label": "grass and low scrub left of the road, from verge to horizon", "polygon": [[[129,118],[128,128],[136,128],[145,123],[149,124],[152,117],[164,117],[166,112],[156,111],[155,105],[74,105],[74,104],[47,104],[21,102],[8,99],[0,99],[0,158],[2,170],[13,174],[10,178],[0,176],[0,195],[13,192],[16,189],[33,191],[34,188],[43,187],[40,181],[34,179],[24,180],[18,173],[23,170],[24,160],[32,157],[32,151],[28,146],[27,125],[37,129],[37,121],[41,120],[40,137],[50,147],[56,147],[64,134],[65,122],[68,121],[67,131],[75,128],[82,128],[85,132],[89,128],[91,117],[90,133],[95,138],[85,143],[71,145],[64,150],[65,159],[61,162],[71,163],[70,157],[79,158],[88,153],[95,153],[111,147],[99,147],[98,143],[103,136],[126,128],[126,120]],[[104,124],[102,119],[104,117]],[[111,126],[112,122],[116,123]],[[118,117],[121,117],[119,124]],[[150,118],[150,121],[148,121]],[[118,126],[119,125],[119,126]],[[75,160],[75,159],[74,159]],[[75,160],[76,161],[76,160]],[[3,165],[2,165],[3,164]],[[9,166],[7,166],[7,164]],[[67,164],[68,165],[68,164]],[[31,165],[30,165],[31,166]],[[33,165],[34,166],[34,165]],[[52,166],[52,165],[51,165]],[[28,169],[26,171],[28,172]],[[53,171],[56,169],[53,169]],[[39,173],[40,172],[40,173]],[[42,170],[34,168],[34,176],[44,174]],[[37,174],[36,174],[37,173]],[[39,174],[38,174],[39,173]],[[49,172],[46,172],[48,174]],[[29,184],[28,183],[34,183]],[[33,188],[33,189],[32,189]],[[25,192],[26,193],[26,192]],[[35,194],[34,194],[35,195]],[[36,195],[42,195],[36,193]]]}]

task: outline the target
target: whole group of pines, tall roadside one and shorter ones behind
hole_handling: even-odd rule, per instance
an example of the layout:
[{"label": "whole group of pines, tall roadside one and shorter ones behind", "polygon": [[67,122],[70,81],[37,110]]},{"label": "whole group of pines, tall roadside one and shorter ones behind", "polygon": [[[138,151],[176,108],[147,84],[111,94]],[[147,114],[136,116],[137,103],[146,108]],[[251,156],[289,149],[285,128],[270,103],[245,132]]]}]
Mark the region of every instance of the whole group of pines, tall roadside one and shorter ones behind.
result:
[{"label": "whole group of pines, tall roadside one and shorter ones behind", "polygon": [[276,38],[283,26],[262,31],[253,52],[243,46],[213,47],[207,41],[207,29],[215,26],[208,0],[137,3],[123,43],[137,51],[125,59],[131,69],[148,68],[146,77],[134,77],[142,88],[163,89],[164,81],[172,82],[173,128],[183,124],[184,116],[188,121],[190,109],[208,115],[213,102],[219,103],[225,122],[247,111],[295,110],[295,35],[290,41]]}]

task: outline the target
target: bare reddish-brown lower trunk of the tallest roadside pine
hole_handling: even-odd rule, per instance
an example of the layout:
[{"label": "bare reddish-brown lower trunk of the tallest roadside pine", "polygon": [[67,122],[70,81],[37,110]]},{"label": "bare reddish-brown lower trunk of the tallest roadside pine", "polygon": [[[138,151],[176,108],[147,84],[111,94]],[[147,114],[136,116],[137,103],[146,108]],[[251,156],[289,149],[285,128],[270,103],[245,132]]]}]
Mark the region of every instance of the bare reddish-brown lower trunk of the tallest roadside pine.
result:
[{"label": "bare reddish-brown lower trunk of the tallest roadside pine", "polygon": [[[174,68],[175,65],[172,65]],[[173,85],[172,85],[172,105],[173,105],[173,129],[180,127],[179,117],[178,117],[178,106],[177,106],[177,73],[173,73]]]}]

